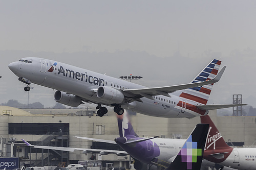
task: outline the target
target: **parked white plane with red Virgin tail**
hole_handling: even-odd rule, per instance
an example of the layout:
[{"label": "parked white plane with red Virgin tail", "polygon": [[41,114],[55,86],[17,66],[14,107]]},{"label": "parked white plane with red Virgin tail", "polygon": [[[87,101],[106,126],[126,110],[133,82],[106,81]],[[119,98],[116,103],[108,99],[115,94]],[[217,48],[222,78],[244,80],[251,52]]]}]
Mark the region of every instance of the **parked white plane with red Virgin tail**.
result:
[{"label": "parked white plane with red Virgin tail", "polygon": [[202,124],[209,124],[204,159],[234,169],[256,169],[256,148],[231,148],[209,115],[201,116]]}]

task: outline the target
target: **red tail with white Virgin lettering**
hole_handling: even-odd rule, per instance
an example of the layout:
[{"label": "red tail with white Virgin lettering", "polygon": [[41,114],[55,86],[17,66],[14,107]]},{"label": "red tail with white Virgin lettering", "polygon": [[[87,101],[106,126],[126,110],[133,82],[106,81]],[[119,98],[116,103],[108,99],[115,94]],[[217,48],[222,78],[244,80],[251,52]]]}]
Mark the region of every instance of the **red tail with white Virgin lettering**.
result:
[{"label": "red tail with white Virgin lettering", "polygon": [[200,116],[200,118],[202,124],[209,124],[204,158],[215,163],[223,162],[233,149],[227,145],[209,115]]}]

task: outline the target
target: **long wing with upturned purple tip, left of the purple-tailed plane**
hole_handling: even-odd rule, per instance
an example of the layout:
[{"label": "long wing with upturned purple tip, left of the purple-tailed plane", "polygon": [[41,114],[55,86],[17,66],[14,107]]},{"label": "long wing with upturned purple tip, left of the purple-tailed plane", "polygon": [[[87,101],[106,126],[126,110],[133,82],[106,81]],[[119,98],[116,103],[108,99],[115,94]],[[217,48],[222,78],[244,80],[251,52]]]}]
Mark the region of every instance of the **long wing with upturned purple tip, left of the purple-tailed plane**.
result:
[{"label": "long wing with upturned purple tip, left of the purple-tailed plane", "polygon": [[39,148],[39,149],[50,149],[50,150],[57,150],[57,151],[68,151],[68,152],[74,152],[74,151],[83,151],[83,153],[90,153],[90,152],[96,152],[101,155],[108,155],[108,154],[116,154],[118,156],[125,156],[128,155],[125,151],[118,151],[118,150],[101,150],[101,149],[89,149],[89,148],[67,148],[67,147],[50,147],[50,146],[41,146],[41,145],[32,145],[26,140],[22,139],[29,147],[33,148]]}]

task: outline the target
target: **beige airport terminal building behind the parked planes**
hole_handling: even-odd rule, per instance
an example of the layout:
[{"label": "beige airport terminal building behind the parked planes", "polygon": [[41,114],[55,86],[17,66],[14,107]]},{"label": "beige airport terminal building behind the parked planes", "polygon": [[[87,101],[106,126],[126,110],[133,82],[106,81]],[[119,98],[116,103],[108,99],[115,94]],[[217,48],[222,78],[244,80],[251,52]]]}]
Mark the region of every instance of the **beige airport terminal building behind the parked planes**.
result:
[{"label": "beige airport terminal building behind the parked planes", "polygon": [[[90,109],[27,109],[0,106],[1,157],[19,157],[20,166],[68,165],[79,160],[99,160],[102,166],[129,167],[130,156],[100,155],[82,151],[66,152],[28,147],[22,139],[34,145],[120,150],[115,144],[89,141],[74,136],[114,140],[119,137],[116,113],[103,117]],[[254,145],[256,117],[217,116],[209,113],[226,142],[230,145]],[[132,125],[140,137],[187,138],[200,118],[160,118],[142,114],[131,115]],[[132,159],[131,159],[132,160]]]}]

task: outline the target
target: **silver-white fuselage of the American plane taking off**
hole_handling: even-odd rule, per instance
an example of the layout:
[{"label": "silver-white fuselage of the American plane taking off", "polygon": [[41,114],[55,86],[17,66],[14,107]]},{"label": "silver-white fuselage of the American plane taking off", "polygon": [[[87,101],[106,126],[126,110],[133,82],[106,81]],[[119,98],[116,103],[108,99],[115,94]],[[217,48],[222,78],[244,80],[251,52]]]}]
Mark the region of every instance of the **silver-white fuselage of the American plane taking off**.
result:
[{"label": "silver-white fuselage of the American plane taking off", "polygon": [[[29,79],[32,83],[60,90],[79,96],[83,101],[110,106],[112,103],[101,100],[96,95],[100,86],[109,86],[115,89],[138,89],[144,86],[113,78],[87,69],[69,64],[42,58],[23,58],[32,61],[13,62],[9,68],[19,78]],[[49,71],[50,70],[50,71]],[[187,109],[198,103],[180,98],[172,93],[171,97],[164,95],[154,96],[154,100],[141,98],[142,102],[122,103],[124,109],[158,117],[195,117],[201,114]],[[178,106],[178,103],[180,105]],[[182,103],[182,104],[181,104]],[[207,114],[208,111],[205,111]]]}]

